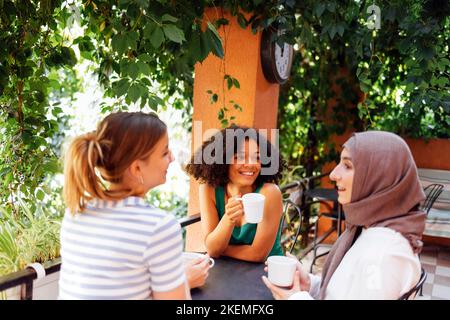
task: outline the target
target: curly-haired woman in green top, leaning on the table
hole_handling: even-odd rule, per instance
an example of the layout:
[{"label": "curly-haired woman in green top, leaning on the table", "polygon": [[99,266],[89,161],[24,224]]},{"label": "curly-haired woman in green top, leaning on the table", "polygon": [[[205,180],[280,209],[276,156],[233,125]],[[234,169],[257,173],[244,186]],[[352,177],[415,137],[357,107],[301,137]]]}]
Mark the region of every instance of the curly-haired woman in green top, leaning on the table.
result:
[{"label": "curly-haired woman in green top, leaning on the table", "polygon": [[[212,147],[222,149],[213,152],[214,161],[205,161]],[[252,128],[223,129],[196,151],[186,171],[200,182],[201,224],[209,255],[254,262],[283,255],[279,232],[282,196],[277,186],[282,169],[278,150]],[[242,202],[236,199],[247,193],[266,198],[258,224],[245,221]]]}]

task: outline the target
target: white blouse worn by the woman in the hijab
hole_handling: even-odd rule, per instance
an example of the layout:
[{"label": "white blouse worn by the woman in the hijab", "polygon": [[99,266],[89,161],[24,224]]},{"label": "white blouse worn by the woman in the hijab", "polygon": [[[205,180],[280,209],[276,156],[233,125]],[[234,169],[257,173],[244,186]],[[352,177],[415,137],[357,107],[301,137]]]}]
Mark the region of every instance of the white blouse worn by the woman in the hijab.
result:
[{"label": "white blouse worn by the woman in the hijab", "polygon": [[[363,229],[328,283],[325,299],[398,299],[419,281],[420,260],[408,240],[389,228]],[[317,299],[321,278],[289,300]]]}]

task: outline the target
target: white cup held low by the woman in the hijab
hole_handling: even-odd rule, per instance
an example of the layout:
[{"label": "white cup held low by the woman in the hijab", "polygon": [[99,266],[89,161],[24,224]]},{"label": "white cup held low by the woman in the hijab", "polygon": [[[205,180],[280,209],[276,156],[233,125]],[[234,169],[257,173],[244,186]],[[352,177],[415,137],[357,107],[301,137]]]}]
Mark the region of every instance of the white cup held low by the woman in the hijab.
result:
[{"label": "white cup held low by the woman in the hijab", "polygon": [[280,287],[289,287],[294,282],[297,261],[285,256],[270,256],[267,258],[269,281]]}]

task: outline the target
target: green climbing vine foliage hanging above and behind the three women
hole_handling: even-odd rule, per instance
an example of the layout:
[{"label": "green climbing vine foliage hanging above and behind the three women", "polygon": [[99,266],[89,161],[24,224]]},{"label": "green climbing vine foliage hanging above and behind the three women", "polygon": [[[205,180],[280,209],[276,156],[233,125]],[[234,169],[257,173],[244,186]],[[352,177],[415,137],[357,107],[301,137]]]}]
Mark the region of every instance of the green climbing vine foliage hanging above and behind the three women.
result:
[{"label": "green climbing vine foliage hanging above and behind the three women", "polygon": [[[61,171],[69,117],[61,101],[82,89],[83,62],[109,98],[103,112],[158,110],[172,99],[189,115],[194,65],[224,56],[218,30],[228,21],[204,21],[208,7],[254,33],[277,24],[286,30],[279,40],[296,46],[279,115],[291,163],[326,159],[325,141],[348,127],[448,138],[448,2],[375,4],[379,29],[369,28],[374,1],[363,0],[0,0],[0,201],[14,208],[17,197],[32,203],[52,192],[45,181]],[[223,83],[240,88],[226,70]],[[235,120],[227,112],[242,109],[238,101],[210,96],[223,126]]]}]

